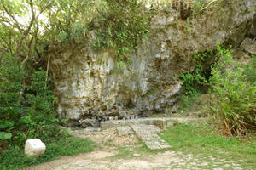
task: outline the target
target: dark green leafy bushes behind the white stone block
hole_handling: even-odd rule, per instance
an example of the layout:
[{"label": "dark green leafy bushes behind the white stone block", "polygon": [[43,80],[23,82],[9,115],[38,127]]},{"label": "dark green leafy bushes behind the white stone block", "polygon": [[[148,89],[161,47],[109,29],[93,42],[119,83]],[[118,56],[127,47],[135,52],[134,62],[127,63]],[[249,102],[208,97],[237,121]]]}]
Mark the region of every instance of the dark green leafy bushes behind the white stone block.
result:
[{"label": "dark green leafy bushes behind the white stone block", "polygon": [[49,77],[30,73],[20,61],[5,55],[0,64],[0,145],[22,145],[26,139],[47,139],[56,132],[55,102]]}]

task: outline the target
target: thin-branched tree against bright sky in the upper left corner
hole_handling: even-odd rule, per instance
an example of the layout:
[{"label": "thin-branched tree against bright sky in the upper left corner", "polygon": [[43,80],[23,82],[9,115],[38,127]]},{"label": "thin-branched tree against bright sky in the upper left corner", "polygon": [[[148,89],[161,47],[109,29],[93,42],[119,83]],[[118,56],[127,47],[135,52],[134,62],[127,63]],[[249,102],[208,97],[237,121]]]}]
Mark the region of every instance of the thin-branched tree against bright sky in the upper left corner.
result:
[{"label": "thin-branched tree against bright sky in the upper left corner", "polygon": [[[32,54],[38,52],[39,17],[52,7],[54,0],[1,0],[0,31],[2,38],[0,48],[3,54],[10,53],[22,59],[24,67]],[[24,18],[28,20],[23,20]],[[40,56],[39,56],[40,57]]]}]

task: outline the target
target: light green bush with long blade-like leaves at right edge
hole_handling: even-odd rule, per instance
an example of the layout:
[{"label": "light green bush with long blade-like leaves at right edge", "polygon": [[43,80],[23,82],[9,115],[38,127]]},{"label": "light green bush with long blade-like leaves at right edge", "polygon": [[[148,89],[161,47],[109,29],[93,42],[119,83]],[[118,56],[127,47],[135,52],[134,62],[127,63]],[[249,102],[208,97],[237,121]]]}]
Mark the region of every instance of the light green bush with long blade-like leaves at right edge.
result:
[{"label": "light green bush with long blade-like leaves at right edge", "polygon": [[212,111],[230,134],[247,135],[256,126],[256,83],[247,82],[245,65],[234,61],[229,49],[218,47],[218,54],[210,81],[216,99]]}]

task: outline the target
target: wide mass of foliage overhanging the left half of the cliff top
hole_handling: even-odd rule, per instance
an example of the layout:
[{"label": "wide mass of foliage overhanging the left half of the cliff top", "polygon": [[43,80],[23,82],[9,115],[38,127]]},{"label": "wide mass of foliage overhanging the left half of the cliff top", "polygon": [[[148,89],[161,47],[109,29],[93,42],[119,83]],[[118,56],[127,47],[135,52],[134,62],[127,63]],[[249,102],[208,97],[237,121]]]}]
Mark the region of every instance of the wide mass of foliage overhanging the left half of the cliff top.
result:
[{"label": "wide mass of foliage overhanging the left half of the cliff top", "polygon": [[119,69],[131,61],[129,55],[136,51],[137,41],[148,35],[150,12],[137,0],[66,0],[56,1],[53,8],[60,10],[52,10],[49,24],[42,25],[43,44],[57,37],[57,42],[71,48],[82,48],[88,42],[98,51],[110,48]]}]

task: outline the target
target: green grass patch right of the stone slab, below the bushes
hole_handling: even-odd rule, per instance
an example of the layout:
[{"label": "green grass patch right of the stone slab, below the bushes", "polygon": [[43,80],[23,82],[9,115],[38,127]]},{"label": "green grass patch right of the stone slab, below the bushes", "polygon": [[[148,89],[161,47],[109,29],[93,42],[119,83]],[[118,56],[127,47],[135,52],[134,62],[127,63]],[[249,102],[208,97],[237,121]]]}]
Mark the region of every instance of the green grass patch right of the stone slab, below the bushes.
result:
[{"label": "green grass patch right of the stone slab, below the bushes", "polygon": [[193,154],[203,161],[209,156],[241,165],[244,169],[256,168],[255,139],[224,138],[207,123],[176,124],[160,135],[172,150]]}]

